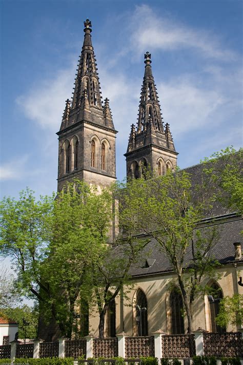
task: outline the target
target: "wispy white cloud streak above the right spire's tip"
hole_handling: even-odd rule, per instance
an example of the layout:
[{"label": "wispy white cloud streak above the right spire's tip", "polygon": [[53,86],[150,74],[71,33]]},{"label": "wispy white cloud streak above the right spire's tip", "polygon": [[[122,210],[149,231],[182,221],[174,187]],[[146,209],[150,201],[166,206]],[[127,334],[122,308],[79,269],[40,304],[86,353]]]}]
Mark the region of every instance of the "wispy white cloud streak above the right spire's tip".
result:
[{"label": "wispy white cloud streak above the right spire's tip", "polygon": [[225,49],[211,32],[175,23],[168,15],[158,16],[148,5],[136,7],[130,24],[131,46],[138,52],[144,52],[147,48],[150,51],[192,48],[199,51],[203,57],[224,61],[231,61],[237,57],[233,51]]}]

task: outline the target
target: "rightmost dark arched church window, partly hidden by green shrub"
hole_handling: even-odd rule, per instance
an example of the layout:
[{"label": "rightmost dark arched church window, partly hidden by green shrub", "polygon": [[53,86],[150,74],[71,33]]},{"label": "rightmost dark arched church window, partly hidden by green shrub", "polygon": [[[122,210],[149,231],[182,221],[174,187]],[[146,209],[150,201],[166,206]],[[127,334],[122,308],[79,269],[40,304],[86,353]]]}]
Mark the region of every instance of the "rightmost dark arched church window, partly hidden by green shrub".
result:
[{"label": "rightmost dark arched church window, partly hidden by green shrub", "polygon": [[212,288],[212,298],[213,298],[212,300],[209,301],[211,331],[219,333],[226,332],[226,328],[220,327],[215,320],[215,318],[219,313],[220,300],[223,298],[222,291],[216,283],[212,284],[211,288]]}]

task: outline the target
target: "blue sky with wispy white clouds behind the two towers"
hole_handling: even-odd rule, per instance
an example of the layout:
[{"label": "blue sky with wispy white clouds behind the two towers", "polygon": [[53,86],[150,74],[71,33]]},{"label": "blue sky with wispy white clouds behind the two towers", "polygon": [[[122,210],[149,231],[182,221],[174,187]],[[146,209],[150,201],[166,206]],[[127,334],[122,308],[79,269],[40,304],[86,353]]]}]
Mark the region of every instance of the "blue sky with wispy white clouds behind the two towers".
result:
[{"label": "blue sky with wispy white clouds behind the two towers", "polygon": [[241,0],[0,0],[0,7],[1,197],[26,186],[37,196],[56,191],[55,133],[72,95],[86,18],[118,130],[118,180],[126,176],[146,51],[180,168],[242,146]]}]

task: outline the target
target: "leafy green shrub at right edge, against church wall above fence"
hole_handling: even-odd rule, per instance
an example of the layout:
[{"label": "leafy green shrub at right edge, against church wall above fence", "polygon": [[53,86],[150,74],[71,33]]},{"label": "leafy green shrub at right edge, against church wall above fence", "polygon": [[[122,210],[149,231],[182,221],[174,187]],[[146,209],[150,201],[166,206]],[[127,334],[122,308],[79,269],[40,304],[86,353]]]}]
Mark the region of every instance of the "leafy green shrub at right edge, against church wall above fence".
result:
[{"label": "leafy green shrub at right edge, against church wall above fence", "polygon": [[221,327],[226,327],[228,324],[241,325],[243,323],[242,294],[234,294],[232,297],[226,296],[220,300],[216,322]]}]

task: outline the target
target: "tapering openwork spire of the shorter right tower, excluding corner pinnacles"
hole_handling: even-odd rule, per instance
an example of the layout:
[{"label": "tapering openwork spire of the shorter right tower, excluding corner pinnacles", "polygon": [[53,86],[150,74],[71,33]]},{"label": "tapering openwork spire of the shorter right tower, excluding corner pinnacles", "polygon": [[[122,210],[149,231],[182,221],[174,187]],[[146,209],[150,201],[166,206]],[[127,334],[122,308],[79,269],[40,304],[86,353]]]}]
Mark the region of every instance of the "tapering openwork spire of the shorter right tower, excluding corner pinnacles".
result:
[{"label": "tapering openwork spire of the shorter right tower, excluding corner pinnacles", "polygon": [[161,117],[157,89],[151,69],[151,54],[146,52],[144,57],[145,73],[140,93],[137,132],[147,130],[148,126],[159,132],[164,132],[163,118]]}]

